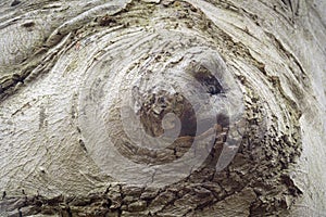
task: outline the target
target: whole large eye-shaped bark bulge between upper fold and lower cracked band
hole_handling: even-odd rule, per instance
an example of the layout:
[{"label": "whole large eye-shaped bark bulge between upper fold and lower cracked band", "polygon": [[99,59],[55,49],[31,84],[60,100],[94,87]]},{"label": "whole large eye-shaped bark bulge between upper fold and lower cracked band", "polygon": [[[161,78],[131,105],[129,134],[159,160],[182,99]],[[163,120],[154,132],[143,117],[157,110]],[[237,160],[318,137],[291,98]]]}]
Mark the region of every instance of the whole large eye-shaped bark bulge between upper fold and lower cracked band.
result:
[{"label": "whole large eye-shaped bark bulge between upper fold and lower cracked band", "polygon": [[[23,169],[10,171],[8,168],[12,167],[4,165],[3,170],[16,180],[17,171],[29,169],[24,177],[27,184],[22,186],[43,187],[50,180],[60,192],[65,189],[74,193],[108,182],[111,187],[113,179],[141,186],[139,189],[151,186],[173,191],[175,187],[189,187],[187,191],[200,197],[199,202],[212,195],[205,190],[213,192],[213,201],[221,201],[250,184],[265,188],[269,195],[269,182],[290,183],[284,170],[281,176],[273,177],[278,168],[288,168],[299,152],[293,142],[298,130],[291,125],[287,129],[292,135],[278,136],[284,133],[278,128],[281,123],[292,118],[287,114],[288,104],[283,103],[288,101],[277,101],[285,97],[271,97],[281,92],[281,88],[274,88],[271,94],[269,84],[258,87],[262,72],[255,68],[256,61],[241,42],[226,37],[208,21],[200,9],[192,10],[186,1],[150,8],[143,2],[114,12],[118,18],[105,20],[105,25],[90,22],[83,27],[79,23],[87,18],[82,17],[61,26],[61,36],[52,34],[54,38],[50,39],[55,40],[48,42],[61,42],[53,49],[50,44],[49,53],[47,47],[47,64],[39,64],[29,79],[36,79],[38,73],[47,76],[35,82],[24,80],[26,88],[1,107],[1,114],[5,114],[1,116],[0,139],[3,150],[12,151],[2,152],[3,162],[13,163],[14,154],[28,150],[28,156],[42,165],[41,178],[34,164],[24,162],[25,157],[14,162],[26,163]],[[114,8],[111,3],[114,1],[92,14],[102,9],[106,13],[108,8]],[[154,9],[160,13],[149,13]],[[202,10],[211,9],[214,7]],[[171,14],[181,11],[191,15],[176,21],[175,28],[165,25],[170,20],[173,23]],[[146,18],[123,23],[126,16],[135,18],[135,12]],[[71,28],[75,24],[76,35],[70,34],[70,29],[77,29]],[[234,50],[241,52],[235,54]],[[244,75],[247,81],[238,84],[238,76]],[[23,78],[13,76],[12,81]],[[264,110],[268,114],[263,114]],[[273,116],[274,111],[281,111],[280,115]],[[279,146],[286,149],[279,151]],[[76,177],[83,180],[80,187],[75,184]],[[38,190],[48,193],[48,189]],[[254,190],[256,194],[261,192]],[[286,196],[296,191],[291,187]],[[188,200],[185,192],[178,193]],[[271,200],[272,203],[279,201]]]}]

